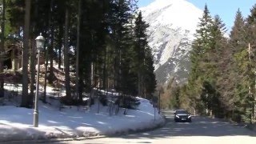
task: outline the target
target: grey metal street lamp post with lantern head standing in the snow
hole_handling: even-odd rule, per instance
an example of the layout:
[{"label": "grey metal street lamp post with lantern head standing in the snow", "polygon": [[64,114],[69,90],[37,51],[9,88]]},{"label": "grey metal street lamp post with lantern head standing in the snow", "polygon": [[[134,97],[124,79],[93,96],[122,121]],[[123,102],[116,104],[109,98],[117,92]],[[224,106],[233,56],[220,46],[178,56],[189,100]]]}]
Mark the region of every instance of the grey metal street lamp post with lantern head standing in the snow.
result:
[{"label": "grey metal street lamp post with lantern head standing in the snow", "polygon": [[46,39],[42,37],[42,33],[35,38],[36,46],[38,50],[38,72],[37,72],[37,83],[36,83],[36,92],[34,97],[34,121],[33,126],[38,127],[38,91],[39,91],[39,71],[40,71],[40,50],[43,49]]}]

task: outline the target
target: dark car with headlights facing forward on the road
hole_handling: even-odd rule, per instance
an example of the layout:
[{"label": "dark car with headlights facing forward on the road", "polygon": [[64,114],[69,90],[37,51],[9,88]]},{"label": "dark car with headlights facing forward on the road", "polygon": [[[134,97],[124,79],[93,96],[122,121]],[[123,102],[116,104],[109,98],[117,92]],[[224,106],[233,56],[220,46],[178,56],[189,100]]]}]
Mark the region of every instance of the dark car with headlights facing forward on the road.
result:
[{"label": "dark car with headlights facing forward on the road", "polygon": [[175,122],[192,122],[191,115],[186,110],[176,110],[174,112]]}]

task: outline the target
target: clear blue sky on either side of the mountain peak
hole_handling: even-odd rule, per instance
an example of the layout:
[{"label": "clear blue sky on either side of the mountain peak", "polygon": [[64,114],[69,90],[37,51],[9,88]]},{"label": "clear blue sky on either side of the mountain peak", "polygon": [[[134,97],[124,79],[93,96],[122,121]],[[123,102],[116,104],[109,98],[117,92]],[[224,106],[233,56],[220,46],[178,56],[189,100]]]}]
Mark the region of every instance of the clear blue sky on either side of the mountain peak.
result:
[{"label": "clear blue sky on either side of the mountain peak", "polygon": [[[138,6],[147,6],[154,0],[138,0]],[[218,14],[226,24],[228,30],[234,25],[234,17],[238,8],[246,18],[250,14],[250,9],[256,4],[255,0],[187,0],[203,10],[207,4],[212,16]]]}]

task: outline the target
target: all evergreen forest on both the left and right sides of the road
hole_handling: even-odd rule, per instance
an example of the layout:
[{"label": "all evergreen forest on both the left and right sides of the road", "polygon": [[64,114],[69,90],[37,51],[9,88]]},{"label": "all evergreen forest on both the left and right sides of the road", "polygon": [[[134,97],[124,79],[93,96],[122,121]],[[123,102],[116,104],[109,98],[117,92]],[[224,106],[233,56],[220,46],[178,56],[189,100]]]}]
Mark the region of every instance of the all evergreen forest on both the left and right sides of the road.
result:
[{"label": "all evergreen forest on both the left and right sides of the road", "polygon": [[[230,31],[205,6],[190,51],[190,75],[182,86],[172,79],[156,89],[148,26],[137,0],[2,0],[0,94],[6,82],[6,51],[19,46],[20,106],[33,107],[35,38],[42,33],[46,42],[41,85],[61,83],[66,90],[63,102],[82,102],[83,94],[95,87],[150,100],[158,90],[162,108],[184,108],[234,122],[256,121],[256,5],[247,18],[238,10]],[[64,81],[58,80],[56,70],[62,71]]]}]

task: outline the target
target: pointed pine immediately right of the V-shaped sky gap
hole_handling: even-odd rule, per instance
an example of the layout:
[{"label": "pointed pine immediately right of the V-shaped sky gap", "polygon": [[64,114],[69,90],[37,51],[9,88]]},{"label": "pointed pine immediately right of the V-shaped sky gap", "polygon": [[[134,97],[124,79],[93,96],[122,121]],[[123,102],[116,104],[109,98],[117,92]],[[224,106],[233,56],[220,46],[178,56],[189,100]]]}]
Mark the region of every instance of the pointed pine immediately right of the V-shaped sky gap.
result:
[{"label": "pointed pine immediately right of the V-shaped sky gap", "polygon": [[[236,122],[242,120],[241,115],[243,113],[243,111],[240,111],[240,107],[242,106],[242,95],[240,94],[243,94],[243,90],[241,89],[243,76],[241,75],[242,67],[240,66],[242,61],[238,55],[243,54],[244,50],[246,50],[246,42],[246,22],[244,18],[242,18],[241,11],[238,9],[234,20],[234,26],[230,31],[230,50],[226,51],[226,54],[224,54],[226,55],[226,60],[223,62],[226,62],[227,64],[222,64],[222,67],[226,69],[226,71],[223,72],[223,74],[225,74],[224,78],[222,78],[223,80],[226,79],[226,82],[222,82],[222,96],[226,105],[226,110],[230,110],[230,117]],[[247,60],[247,58],[244,60]]]}]

